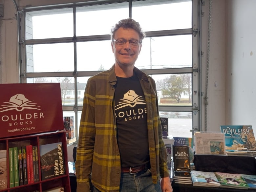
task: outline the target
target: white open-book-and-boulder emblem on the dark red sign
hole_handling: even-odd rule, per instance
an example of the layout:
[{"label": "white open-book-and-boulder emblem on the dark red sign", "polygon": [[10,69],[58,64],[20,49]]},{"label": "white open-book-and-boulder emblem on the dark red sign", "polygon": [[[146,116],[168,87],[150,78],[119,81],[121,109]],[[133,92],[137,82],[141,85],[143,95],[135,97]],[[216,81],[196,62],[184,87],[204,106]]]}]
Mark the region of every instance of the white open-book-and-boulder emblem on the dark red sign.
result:
[{"label": "white open-book-and-boulder emblem on the dark red sign", "polygon": [[9,102],[4,102],[7,103],[6,105],[1,105],[0,107],[0,113],[5,112],[5,111],[11,111],[11,110],[16,110],[16,111],[23,111],[24,109],[36,109],[36,110],[41,110],[38,109],[38,105],[35,105],[36,103],[32,103],[33,101],[30,101],[27,99],[23,94],[16,94],[14,96],[11,96]]}]

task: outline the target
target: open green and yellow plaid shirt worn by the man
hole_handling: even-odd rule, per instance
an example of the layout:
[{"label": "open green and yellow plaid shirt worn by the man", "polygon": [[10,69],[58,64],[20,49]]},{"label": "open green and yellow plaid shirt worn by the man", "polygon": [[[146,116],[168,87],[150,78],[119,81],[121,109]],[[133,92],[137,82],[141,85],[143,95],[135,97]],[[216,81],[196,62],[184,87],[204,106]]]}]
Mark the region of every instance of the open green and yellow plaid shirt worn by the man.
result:
[{"label": "open green and yellow plaid shirt worn by the man", "polygon": [[[136,67],[147,106],[149,156],[154,183],[168,177],[155,81]],[[77,192],[89,192],[89,178],[103,192],[118,192],[121,163],[117,145],[114,66],[91,77],[85,88],[76,153]],[[138,140],[138,146],[139,146]]]}]

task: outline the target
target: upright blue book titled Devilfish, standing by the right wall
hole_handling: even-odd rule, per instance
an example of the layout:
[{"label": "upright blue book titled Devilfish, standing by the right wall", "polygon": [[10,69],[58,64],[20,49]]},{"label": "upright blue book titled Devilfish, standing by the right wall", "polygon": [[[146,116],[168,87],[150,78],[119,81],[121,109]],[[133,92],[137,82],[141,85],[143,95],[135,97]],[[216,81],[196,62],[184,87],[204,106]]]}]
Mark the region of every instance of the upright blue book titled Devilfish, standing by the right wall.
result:
[{"label": "upright blue book titled Devilfish, standing by the right wall", "polygon": [[220,128],[225,135],[226,150],[256,150],[256,141],[251,125],[221,125]]}]

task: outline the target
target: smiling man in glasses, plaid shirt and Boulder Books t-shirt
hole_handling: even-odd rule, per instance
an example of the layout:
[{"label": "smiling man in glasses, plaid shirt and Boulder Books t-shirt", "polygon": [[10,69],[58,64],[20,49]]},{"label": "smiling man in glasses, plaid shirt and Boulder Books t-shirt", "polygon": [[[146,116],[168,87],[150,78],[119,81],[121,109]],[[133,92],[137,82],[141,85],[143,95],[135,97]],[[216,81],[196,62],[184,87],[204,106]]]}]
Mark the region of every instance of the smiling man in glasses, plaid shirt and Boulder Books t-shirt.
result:
[{"label": "smiling man in glasses, plaid shirt and Boulder Books t-shirt", "polygon": [[134,67],[145,35],[131,18],[111,33],[115,64],[85,89],[77,192],[89,192],[90,177],[96,192],[172,192],[155,81]]}]

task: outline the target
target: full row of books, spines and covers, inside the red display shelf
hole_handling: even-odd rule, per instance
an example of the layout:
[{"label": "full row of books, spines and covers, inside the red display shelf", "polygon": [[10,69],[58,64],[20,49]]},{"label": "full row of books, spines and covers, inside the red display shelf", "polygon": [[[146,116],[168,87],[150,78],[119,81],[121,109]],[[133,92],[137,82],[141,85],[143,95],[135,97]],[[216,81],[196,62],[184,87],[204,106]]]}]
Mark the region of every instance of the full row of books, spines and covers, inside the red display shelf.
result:
[{"label": "full row of books, spines and covers, inside the red display shelf", "polygon": [[[38,146],[26,145],[0,150],[0,190],[7,186],[7,163],[9,163],[9,188],[40,181]],[[40,145],[41,180],[65,175],[62,143]]]}]

